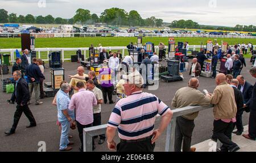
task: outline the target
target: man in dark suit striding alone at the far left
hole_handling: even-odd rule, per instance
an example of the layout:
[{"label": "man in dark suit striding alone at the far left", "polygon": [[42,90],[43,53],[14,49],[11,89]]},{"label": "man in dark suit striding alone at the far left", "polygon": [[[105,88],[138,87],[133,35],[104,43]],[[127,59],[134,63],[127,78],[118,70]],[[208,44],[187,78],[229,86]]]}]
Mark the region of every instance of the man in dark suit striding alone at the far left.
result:
[{"label": "man in dark suit striding alone at the far left", "polygon": [[14,114],[13,127],[11,127],[10,131],[5,132],[6,135],[14,134],[16,127],[18,126],[19,119],[23,112],[30,121],[30,125],[27,126],[27,128],[36,126],[35,118],[27,105],[28,100],[30,100],[30,91],[28,90],[27,82],[21,77],[22,74],[20,71],[14,71],[13,78],[16,82],[10,103],[14,104],[14,102],[16,101],[17,106]]}]

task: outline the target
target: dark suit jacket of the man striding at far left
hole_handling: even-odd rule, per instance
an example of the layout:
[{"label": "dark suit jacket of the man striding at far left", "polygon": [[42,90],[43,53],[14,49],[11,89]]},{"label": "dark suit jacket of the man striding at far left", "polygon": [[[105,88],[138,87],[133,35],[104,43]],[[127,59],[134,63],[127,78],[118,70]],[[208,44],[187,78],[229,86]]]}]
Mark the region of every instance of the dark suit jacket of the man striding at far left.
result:
[{"label": "dark suit jacket of the man striding at far left", "polygon": [[[17,92],[17,96],[15,95],[15,92]],[[19,82],[14,85],[14,92],[13,96],[11,96],[11,101],[16,101],[18,105],[27,105],[27,102],[30,100],[30,91],[28,89],[28,84],[27,82],[20,78]]]}]

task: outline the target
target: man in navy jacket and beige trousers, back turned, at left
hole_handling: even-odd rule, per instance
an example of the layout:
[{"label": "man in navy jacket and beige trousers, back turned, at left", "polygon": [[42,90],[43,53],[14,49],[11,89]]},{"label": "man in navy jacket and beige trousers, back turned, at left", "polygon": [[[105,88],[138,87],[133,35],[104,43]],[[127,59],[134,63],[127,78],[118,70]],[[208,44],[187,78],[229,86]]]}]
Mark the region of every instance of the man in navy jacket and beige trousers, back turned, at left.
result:
[{"label": "man in navy jacket and beige trousers, back turned, at left", "polygon": [[27,77],[29,80],[28,83],[28,88],[30,88],[30,101],[28,104],[31,104],[31,96],[33,90],[35,91],[35,100],[36,100],[36,105],[43,104],[42,101],[39,101],[40,99],[40,79],[46,79],[44,75],[42,74],[42,71],[40,70],[39,66],[36,65],[36,58],[32,59],[32,64],[27,67]]}]

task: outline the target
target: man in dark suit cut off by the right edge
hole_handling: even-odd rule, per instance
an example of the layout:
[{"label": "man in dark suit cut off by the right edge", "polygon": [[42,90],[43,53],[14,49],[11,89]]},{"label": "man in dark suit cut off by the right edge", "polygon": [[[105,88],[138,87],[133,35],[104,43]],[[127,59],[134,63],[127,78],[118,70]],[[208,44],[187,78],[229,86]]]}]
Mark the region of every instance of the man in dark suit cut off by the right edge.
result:
[{"label": "man in dark suit cut off by the right edge", "polygon": [[[250,70],[251,76],[256,78],[256,66]],[[246,139],[256,140],[256,83],[253,86],[253,93],[250,100],[249,134],[244,134]]]}]

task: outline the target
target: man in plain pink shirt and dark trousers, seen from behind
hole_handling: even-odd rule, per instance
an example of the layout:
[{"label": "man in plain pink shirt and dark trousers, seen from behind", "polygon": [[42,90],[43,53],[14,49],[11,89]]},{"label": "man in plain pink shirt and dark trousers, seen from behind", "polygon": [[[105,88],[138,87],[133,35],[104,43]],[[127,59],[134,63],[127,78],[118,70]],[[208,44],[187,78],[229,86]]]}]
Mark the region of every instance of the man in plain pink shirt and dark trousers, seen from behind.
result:
[{"label": "man in plain pink shirt and dark trousers, seen from behind", "polygon": [[93,92],[86,91],[83,81],[77,82],[76,87],[79,88],[79,92],[72,96],[68,109],[76,111],[77,130],[81,141],[80,151],[83,151],[82,130],[93,126],[93,105],[97,105],[97,100]]}]

